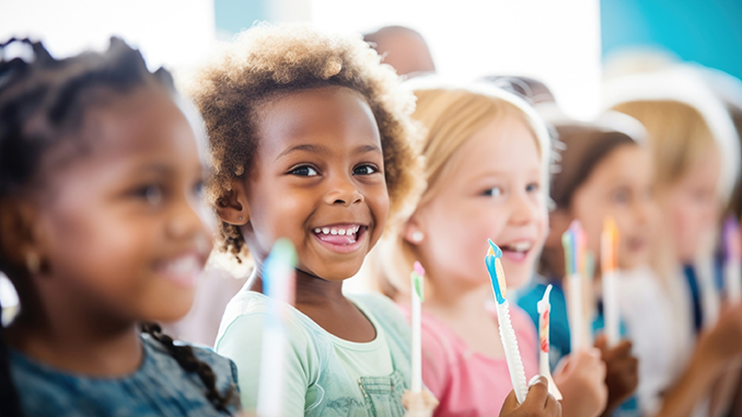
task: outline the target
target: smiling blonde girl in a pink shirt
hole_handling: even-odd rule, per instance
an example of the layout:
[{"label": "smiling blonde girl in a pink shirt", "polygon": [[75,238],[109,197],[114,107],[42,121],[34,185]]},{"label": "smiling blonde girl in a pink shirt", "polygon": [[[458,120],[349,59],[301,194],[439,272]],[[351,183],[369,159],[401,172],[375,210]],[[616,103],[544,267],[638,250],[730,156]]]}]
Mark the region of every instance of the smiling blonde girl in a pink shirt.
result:
[{"label": "smiling blonde girl in a pink shirt", "polygon": [[[401,304],[409,300],[413,263],[427,271],[422,379],[441,401],[437,415],[497,415],[511,383],[497,317],[485,308],[492,290],[484,256],[487,239],[502,248],[508,293],[533,273],[547,229],[548,134],[524,102],[494,86],[422,79],[408,85],[418,99],[414,116],[428,129],[427,188],[404,227],[380,245],[373,269]],[[513,304],[511,314],[531,378],[535,328]],[[572,359],[561,375],[570,392],[564,414],[595,416],[605,405],[600,357],[581,351]]]}]

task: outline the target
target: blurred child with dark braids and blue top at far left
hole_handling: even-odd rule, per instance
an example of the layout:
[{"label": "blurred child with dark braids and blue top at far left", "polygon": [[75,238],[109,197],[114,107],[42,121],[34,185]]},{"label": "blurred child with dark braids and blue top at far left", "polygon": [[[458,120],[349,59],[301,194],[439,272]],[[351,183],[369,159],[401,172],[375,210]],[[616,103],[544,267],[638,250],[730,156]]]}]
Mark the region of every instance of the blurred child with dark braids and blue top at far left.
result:
[{"label": "blurred child with dark braids and blue top at far left", "polygon": [[233,414],[234,364],[154,324],[188,311],[210,247],[172,79],[118,38],[62,60],[19,45],[32,60],[0,63],[0,270],[23,413]]}]

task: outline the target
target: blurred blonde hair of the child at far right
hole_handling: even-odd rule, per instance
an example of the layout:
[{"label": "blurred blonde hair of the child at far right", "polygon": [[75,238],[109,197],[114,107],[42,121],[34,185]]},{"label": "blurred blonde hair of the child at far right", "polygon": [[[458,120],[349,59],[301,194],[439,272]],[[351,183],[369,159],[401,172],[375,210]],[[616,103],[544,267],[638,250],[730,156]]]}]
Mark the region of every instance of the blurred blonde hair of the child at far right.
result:
[{"label": "blurred blonde hair of the child at far right", "polygon": [[703,115],[688,104],[676,101],[635,101],[618,104],[614,109],[645,125],[659,189],[664,189],[682,177],[698,155],[718,149]]}]

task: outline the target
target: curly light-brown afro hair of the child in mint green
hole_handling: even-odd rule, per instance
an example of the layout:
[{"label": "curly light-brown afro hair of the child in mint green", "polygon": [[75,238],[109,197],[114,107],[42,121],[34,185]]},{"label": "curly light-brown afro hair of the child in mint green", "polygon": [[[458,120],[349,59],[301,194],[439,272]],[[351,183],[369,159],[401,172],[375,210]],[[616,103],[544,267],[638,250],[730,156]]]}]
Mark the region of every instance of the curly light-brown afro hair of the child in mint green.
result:
[{"label": "curly light-brown afro hair of the child in mint green", "polygon": [[[259,107],[266,101],[292,91],[339,85],[360,93],[373,112],[394,219],[410,206],[407,197],[422,177],[419,129],[410,118],[415,96],[399,82],[360,34],[265,23],[242,32],[183,85],[201,112],[209,137],[212,177],[207,200],[216,208],[230,195],[234,179],[250,175],[260,140]],[[247,248],[240,229],[220,223],[217,247],[241,262]]]}]

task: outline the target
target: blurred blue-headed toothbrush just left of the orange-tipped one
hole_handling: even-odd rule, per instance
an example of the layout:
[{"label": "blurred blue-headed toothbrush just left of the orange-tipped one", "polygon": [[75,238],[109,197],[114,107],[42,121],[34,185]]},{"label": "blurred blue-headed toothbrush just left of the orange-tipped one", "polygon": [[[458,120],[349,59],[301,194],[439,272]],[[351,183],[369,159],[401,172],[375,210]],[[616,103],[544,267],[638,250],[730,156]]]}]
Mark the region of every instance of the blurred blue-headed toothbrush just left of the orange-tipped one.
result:
[{"label": "blurred blue-headed toothbrush just left of the orange-tipped one", "polygon": [[561,235],[561,245],[565,248],[565,265],[567,268],[567,315],[569,318],[569,336],[571,351],[584,346],[582,323],[582,281],[580,278],[580,262],[584,248],[584,235],[580,221],[575,220]]}]

